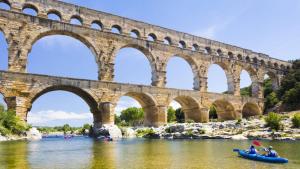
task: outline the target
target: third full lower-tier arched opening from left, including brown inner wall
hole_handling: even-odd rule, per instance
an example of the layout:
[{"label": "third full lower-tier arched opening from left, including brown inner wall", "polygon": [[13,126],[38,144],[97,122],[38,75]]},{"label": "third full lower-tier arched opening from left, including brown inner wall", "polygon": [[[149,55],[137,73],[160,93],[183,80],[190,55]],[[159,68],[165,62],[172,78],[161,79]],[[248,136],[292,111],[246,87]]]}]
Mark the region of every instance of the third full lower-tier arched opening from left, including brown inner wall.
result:
[{"label": "third full lower-tier arched opening from left, including brown inner wall", "polygon": [[190,96],[175,97],[169,105],[168,122],[190,123],[205,121],[206,119],[201,114],[197,100]]}]

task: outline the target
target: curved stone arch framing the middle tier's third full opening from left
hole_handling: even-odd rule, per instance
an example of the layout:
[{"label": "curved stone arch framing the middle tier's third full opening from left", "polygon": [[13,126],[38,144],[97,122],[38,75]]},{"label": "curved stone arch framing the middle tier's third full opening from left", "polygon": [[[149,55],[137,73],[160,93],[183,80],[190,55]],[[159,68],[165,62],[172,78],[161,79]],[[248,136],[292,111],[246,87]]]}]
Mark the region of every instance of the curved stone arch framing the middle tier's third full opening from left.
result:
[{"label": "curved stone arch framing the middle tier's third full opening from left", "polygon": [[167,69],[167,65],[169,63],[169,61],[171,60],[172,57],[179,57],[183,60],[185,60],[188,65],[190,66],[191,70],[192,70],[192,73],[193,73],[193,89],[194,90],[199,90],[199,85],[200,85],[200,76],[199,76],[199,68],[198,68],[198,65],[197,65],[197,62],[193,59],[192,56],[188,56],[188,55],[183,55],[183,54],[175,54],[175,55],[172,55],[170,57],[167,58],[166,60],[166,64],[164,65],[164,68],[163,70],[166,71]]}]

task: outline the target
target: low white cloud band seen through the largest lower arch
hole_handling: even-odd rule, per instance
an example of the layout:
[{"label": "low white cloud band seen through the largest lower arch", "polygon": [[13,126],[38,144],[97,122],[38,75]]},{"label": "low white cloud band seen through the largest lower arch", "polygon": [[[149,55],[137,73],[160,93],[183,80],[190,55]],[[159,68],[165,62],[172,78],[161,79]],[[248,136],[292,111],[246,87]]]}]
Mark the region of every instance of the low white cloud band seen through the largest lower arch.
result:
[{"label": "low white cloud band seen through the largest lower arch", "polygon": [[65,111],[45,110],[29,113],[28,122],[32,124],[43,124],[55,120],[86,120],[93,118],[92,113],[74,113]]}]

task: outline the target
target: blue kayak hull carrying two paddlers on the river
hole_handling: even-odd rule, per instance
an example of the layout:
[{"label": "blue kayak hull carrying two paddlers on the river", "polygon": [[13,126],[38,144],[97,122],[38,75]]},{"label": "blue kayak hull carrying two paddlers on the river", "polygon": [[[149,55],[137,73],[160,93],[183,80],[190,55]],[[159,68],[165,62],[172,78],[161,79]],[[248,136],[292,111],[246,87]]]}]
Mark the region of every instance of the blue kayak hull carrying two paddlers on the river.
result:
[{"label": "blue kayak hull carrying two paddlers on the river", "polygon": [[234,149],[233,151],[237,151],[238,154],[246,159],[255,160],[255,161],[263,161],[268,163],[287,163],[288,159],[281,157],[267,157],[261,154],[248,154],[245,150]]}]

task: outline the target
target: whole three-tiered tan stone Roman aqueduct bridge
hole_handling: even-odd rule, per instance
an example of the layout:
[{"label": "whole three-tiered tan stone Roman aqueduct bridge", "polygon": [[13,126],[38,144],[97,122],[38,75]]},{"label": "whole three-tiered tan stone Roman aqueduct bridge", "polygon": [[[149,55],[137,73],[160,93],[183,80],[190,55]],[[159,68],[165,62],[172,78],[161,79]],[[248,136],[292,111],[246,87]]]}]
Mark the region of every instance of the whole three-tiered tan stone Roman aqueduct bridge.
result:
[{"label": "whole three-tiered tan stone Roman aqueduct bridge", "polygon": [[[8,71],[0,71],[0,93],[8,109],[24,120],[39,96],[55,90],[80,96],[90,106],[94,123],[100,125],[114,123],[114,108],[121,96],[130,96],[141,104],[148,126],[166,123],[166,110],[172,100],[181,104],[186,118],[196,122],[208,121],[211,105],[216,107],[218,118],[225,120],[258,115],[264,107],[264,76],[267,74],[277,88],[291,67],[266,54],[60,1],[0,2],[10,8],[0,9],[0,31],[8,44]],[[28,8],[37,15],[25,14]],[[49,14],[59,20],[49,19]],[[80,24],[71,24],[72,19]],[[91,27],[95,24],[98,29]],[[66,35],[84,43],[95,56],[99,80],[26,73],[32,46],[49,35]],[[151,86],[113,82],[116,54],[125,47],[135,48],[147,57],[152,69]],[[172,56],[182,57],[191,66],[194,90],[165,88],[166,66]],[[207,92],[207,72],[212,64],[225,71],[228,94]],[[251,77],[252,97],[240,96],[242,70]]]}]

